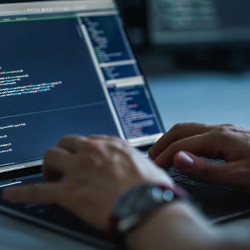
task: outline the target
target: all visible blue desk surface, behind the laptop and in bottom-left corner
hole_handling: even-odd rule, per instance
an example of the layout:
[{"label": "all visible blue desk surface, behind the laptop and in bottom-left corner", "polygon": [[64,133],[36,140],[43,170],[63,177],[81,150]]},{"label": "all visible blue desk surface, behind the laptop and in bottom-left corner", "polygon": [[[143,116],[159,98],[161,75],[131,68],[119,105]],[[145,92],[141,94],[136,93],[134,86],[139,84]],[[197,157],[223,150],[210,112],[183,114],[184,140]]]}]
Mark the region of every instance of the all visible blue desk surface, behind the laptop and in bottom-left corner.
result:
[{"label": "all visible blue desk surface, behind the laptop and in bottom-left corner", "polygon": [[[250,127],[250,73],[150,77],[149,84],[166,129],[178,122],[191,121]],[[0,248],[94,249],[1,214]]]}]

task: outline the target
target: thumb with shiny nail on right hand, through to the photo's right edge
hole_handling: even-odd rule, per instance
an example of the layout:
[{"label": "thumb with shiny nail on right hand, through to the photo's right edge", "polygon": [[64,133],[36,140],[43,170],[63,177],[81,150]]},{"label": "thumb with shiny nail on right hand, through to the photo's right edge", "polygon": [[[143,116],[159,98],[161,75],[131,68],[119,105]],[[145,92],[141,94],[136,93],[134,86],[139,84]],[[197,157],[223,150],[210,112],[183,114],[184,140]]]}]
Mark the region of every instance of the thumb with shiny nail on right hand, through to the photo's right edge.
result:
[{"label": "thumb with shiny nail on right hand, through to the photo's right edge", "polygon": [[184,174],[201,182],[229,186],[250,192],[248,190],[249,160],[248,162],[241,160],[229,163],[210,162],[182,151],[176,154],[174,165]]}]

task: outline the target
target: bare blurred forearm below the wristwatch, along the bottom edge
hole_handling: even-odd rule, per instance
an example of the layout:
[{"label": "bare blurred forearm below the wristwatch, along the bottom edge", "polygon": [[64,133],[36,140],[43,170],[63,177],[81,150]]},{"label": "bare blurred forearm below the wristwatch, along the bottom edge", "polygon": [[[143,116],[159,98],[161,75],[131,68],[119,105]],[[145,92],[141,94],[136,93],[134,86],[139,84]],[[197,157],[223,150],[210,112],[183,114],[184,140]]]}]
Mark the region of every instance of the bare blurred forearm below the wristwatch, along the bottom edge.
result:
[{"label": "bare blurred forearm below the wristwatch, along the bottom edge", "polygon": [[181,202],[163,207],[127,237],[132,250],[249,249],[248,244],[248,239],[209,226],[196,209]]}]

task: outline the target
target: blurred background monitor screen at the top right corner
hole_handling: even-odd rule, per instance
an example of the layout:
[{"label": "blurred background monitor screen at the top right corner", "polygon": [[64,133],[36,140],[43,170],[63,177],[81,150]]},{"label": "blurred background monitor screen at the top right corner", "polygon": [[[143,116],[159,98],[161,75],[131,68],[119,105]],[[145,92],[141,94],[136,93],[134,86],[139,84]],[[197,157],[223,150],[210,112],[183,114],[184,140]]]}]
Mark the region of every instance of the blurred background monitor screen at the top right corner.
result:
[{"label": "blurred background monitor screen at the top right corner", "polygon": [[250,41],[246,0],[149,0],[149,38],[154,45]]}]

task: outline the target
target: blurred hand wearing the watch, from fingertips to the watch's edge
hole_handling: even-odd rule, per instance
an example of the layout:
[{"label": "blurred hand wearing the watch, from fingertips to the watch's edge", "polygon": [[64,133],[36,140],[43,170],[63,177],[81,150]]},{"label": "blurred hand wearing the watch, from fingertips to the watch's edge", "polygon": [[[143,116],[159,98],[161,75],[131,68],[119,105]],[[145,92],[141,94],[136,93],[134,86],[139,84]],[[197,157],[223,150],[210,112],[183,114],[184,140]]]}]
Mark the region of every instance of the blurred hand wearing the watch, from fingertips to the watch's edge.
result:
[{"label": "blurred hand wearing the watch, from fingertips to the watch's edge", "polygon": [[6,189],[4,198],[54,203],[103,231],[124,191],[143,182],[172,185],[170,177],[138,151],[105,136],[61,139],[57,148],[46,152],[43,171],[47,183]]}]

